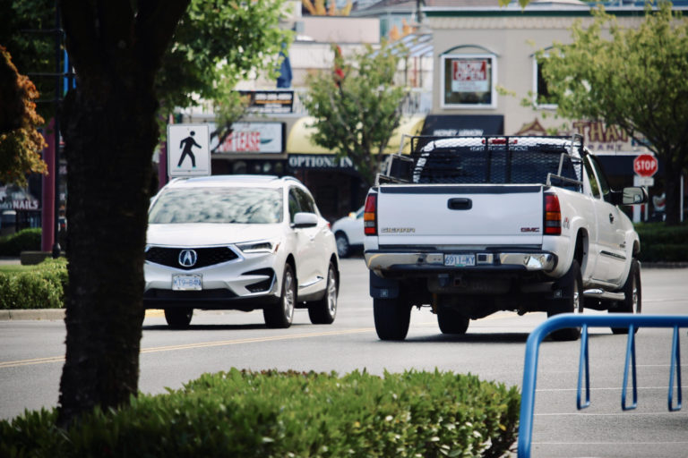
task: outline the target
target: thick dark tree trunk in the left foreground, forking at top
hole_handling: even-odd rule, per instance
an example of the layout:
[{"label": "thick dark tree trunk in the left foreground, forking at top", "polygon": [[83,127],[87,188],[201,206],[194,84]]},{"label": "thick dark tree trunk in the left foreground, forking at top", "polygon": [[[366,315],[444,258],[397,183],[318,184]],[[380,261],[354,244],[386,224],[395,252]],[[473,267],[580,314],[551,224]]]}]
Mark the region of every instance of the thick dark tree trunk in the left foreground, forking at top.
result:
[{"label": "thick dark tree trunk in the left foreground, forking at top", "polygon": [[62,0],[78,75],[64,103],[66,358],[62,427],[138,392],[143,250],[158,140],[155,73],[189,0]]}]

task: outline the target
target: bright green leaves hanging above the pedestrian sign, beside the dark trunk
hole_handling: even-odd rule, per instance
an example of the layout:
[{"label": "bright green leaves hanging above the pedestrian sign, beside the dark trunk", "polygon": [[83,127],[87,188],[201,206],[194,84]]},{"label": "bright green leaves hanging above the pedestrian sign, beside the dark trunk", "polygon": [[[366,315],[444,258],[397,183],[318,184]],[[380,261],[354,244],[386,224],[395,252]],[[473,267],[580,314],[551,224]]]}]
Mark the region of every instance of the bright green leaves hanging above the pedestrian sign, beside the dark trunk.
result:
[{"label": "bright green leaves hanging above the pedestrian sign, beside the dark trunk", "polygon": [[278,27],[283,0],[192,0],[156,76],[163,114],[213,101],[236,103],[236,83],[256,72],[275,76],[291,32]]}]

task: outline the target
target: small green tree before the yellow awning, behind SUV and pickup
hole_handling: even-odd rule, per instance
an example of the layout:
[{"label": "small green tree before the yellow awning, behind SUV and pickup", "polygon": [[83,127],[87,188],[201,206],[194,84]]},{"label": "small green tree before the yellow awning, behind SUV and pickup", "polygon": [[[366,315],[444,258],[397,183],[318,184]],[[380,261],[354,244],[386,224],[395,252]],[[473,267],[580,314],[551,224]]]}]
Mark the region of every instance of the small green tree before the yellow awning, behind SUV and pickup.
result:
[{"label": "small green tree before the yellow awning, behind SUV and pickup", "polygon": [[370,185],[383,162],[383,151],[400,124],[401,105],[408,89],[395,86],[400,45],[383,42],[380,49],[345,59],[338,47],[331,72],[308,78],[304,105],[314,116],[312,140],[349,157]]}]

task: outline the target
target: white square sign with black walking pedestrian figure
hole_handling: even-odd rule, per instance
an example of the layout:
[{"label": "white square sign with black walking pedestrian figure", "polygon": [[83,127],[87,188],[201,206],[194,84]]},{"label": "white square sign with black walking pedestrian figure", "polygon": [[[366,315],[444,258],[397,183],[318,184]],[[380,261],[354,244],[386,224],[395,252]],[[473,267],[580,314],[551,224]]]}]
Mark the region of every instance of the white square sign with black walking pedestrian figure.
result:
[{"label": "white square sign with black walking pedestrian figure", "polygon": [[211,174],[208,124],[168,124],[168,176]]}]

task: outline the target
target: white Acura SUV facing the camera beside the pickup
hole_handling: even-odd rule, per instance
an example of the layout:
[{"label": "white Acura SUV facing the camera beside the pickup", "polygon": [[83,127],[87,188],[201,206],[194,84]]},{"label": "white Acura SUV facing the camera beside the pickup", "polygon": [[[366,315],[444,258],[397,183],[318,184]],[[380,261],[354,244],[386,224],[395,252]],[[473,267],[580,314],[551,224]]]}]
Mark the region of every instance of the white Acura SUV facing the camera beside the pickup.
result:
[{"label": "white Acura SUV facing the camera beside the pickup", "polygon": [[268,327],[289,327],[295,308],[334,321],[334,235],[296,178],[173,180],[151,201],[146,242],[143,303],[170,327],[188,327],[193,309],[262,309]]}]

